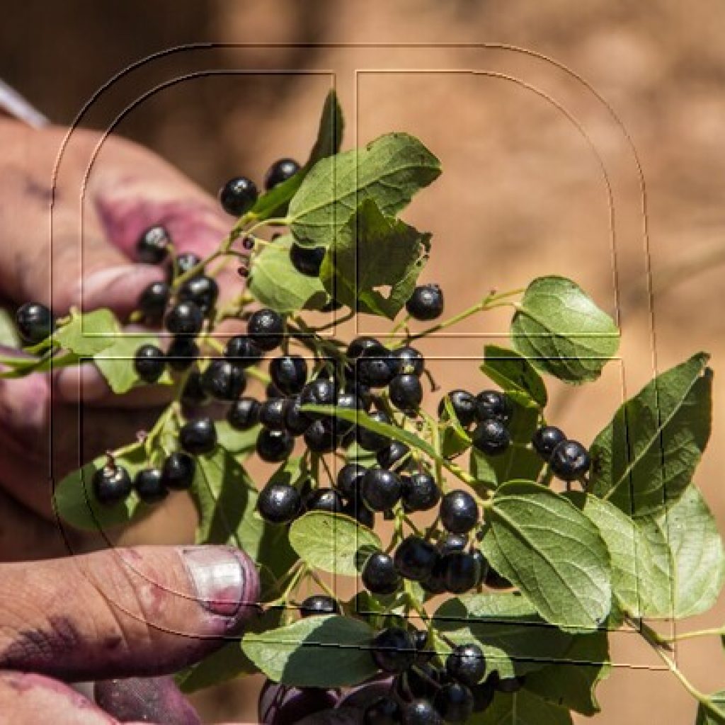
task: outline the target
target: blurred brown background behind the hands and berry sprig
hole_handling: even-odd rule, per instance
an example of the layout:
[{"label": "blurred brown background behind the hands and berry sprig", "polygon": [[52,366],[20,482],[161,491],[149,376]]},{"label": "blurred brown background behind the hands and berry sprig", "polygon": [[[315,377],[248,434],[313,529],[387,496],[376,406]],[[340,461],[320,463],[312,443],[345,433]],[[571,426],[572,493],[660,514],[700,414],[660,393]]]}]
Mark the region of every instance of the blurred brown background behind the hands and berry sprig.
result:
[{"label": "blurred brown background behind the hands and berry sprig", "polygon": [[[716,372],[721,368],[725,6],[720,1],[8,0],[4,9],[0,76],[61,124],[71,123],[109,78],[149,54],[210,41],[299,43],[171,54],[101,94],[82,123],[109,128],[130,104],[115,132],[151,146],[213,193],[236,172],[261,179],[277,157],[304,160],[331,83],[325,72],[334,74],[347,111],[346,146],[356,138],[407,130],[442,159],[441,180],[415,199],[405,218],[434,232],[425,275],[442,283],[450,312],[493,286],[509,289],[540,274],[561,273],[619,315],[621,365],[608,366],[590,389],[555,388],[552,396],[550,419],[584,442],[605,425],[625,392],[644,384],[653,365],[663,370],[708,349]],[[351,45],[371,42],[390,45]],[[549,55],[587,78],[612,104],[647,181],[648,255],[637,168],[607,109],[539,59],[456,43],[506,43]],[[257,72],[230,72],[236,70]],[[356,76],[355,70],[368,72]],[[183,74],[201,75],[134,105],[149,88]],[[600,164],[613,195],[614,241]],[[647,260],[655,287],[652,310]],[[440,358],[434,368],[444,388],[466,381],[479,385],[476,364],[456,358],[480,356],[482,337],[505,332],[507,320],[505,314],[482,317],[460,335],[427,345],[426,352]],[[366,320],[363,329],[381,331],[375,320]],[[711,449],[697,480],[725,529],[718,377],[715,394]],[[166,508],[154,518],[154,526],[128,540],[188,535],[188,508]],[[181,529],[179,521],[185,522]],[[167,533],[159,534],[162,529]],[[724,621],[720,607],[687,628]],[[725,685],[718,642],[689,644],[677,654],[700,689]],[[613,658],[621,668],[600,688],[603,713],[595,722],[694,720],[692,700],[668,674],[647,669],[655,662],[634,637],[615,637]],[[231,684],[196,701],[209,718],[252,722],[256,716],[252,687]]]}]

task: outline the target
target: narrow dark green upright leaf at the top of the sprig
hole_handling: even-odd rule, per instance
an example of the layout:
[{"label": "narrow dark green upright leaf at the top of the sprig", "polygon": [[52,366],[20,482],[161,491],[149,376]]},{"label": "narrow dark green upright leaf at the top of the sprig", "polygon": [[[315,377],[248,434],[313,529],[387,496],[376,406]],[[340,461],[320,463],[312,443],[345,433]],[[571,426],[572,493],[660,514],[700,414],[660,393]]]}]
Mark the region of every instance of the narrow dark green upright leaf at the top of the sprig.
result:
[{"label": "narrow dark green upright leaf at the top of the sprig", "polygon": [[305,176],[310,169],[320,159],[332,156],[339,151],[343,125],[342,109],[337,100],[337,94],[335,91],[330,91],[323,106],[318,137],[307,163],[294,176],[262,194],[252,207],[250,216],[255,220],[264,220],[285,215],[290,199],[297,193],[297,189],[302,181],[305,181]]}]

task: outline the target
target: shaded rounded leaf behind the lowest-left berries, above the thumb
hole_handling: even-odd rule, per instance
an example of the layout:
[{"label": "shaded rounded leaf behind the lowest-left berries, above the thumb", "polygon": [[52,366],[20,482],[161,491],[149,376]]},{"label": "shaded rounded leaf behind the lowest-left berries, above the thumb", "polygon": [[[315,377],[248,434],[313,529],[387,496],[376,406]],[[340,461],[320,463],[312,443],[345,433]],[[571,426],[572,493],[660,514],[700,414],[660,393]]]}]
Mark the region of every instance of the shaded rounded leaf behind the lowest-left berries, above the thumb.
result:
[{"label": "shaded rounded leaf behind the lowest-left berries, above the thumb", "polygon": [[[118,465],[123,465],[131,479],[141,468],[148,465],[146,451],[141,443],[134,443],[117,452],[115,461]],[[69,473],[54,489],[55,513],[75,529],[104,531],[112,526],[128,523],[151,510],[138,500],[135,492],[131,492],[125,501],[112,507],[96,502],[93,476],[106,463],[107,457],[99,456],[78,471]]]}]

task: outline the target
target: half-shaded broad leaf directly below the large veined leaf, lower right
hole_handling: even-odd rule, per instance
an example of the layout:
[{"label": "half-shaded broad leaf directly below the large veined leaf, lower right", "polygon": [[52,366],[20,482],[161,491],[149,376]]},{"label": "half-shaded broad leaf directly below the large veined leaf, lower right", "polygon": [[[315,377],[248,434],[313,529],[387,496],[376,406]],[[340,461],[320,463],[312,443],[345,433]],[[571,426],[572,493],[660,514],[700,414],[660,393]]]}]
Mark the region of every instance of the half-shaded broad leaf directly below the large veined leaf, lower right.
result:
[{"label": "half-shaded broad leaf directly below the large veined leaf, lower right", "polygon": [[513,677],[560,658],[571,635],[546,624],[526,598],[513,592],[452,598],[434,614],[436,629],[456,645],[477,642],[486,655],[486,676]]}]

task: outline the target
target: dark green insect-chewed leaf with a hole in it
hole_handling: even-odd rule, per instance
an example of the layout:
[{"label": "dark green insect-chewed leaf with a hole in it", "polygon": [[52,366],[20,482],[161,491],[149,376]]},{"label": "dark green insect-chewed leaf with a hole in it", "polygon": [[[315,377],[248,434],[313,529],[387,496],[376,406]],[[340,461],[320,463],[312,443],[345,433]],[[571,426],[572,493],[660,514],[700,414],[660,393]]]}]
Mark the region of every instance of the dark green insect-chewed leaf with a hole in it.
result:
[{"label": "dark green insect-chewed leaf with a hole in it", "polygon": [[320,281],[352,310],[393,320],[413,294],[429,237],[364,199],[328,249]]}]

